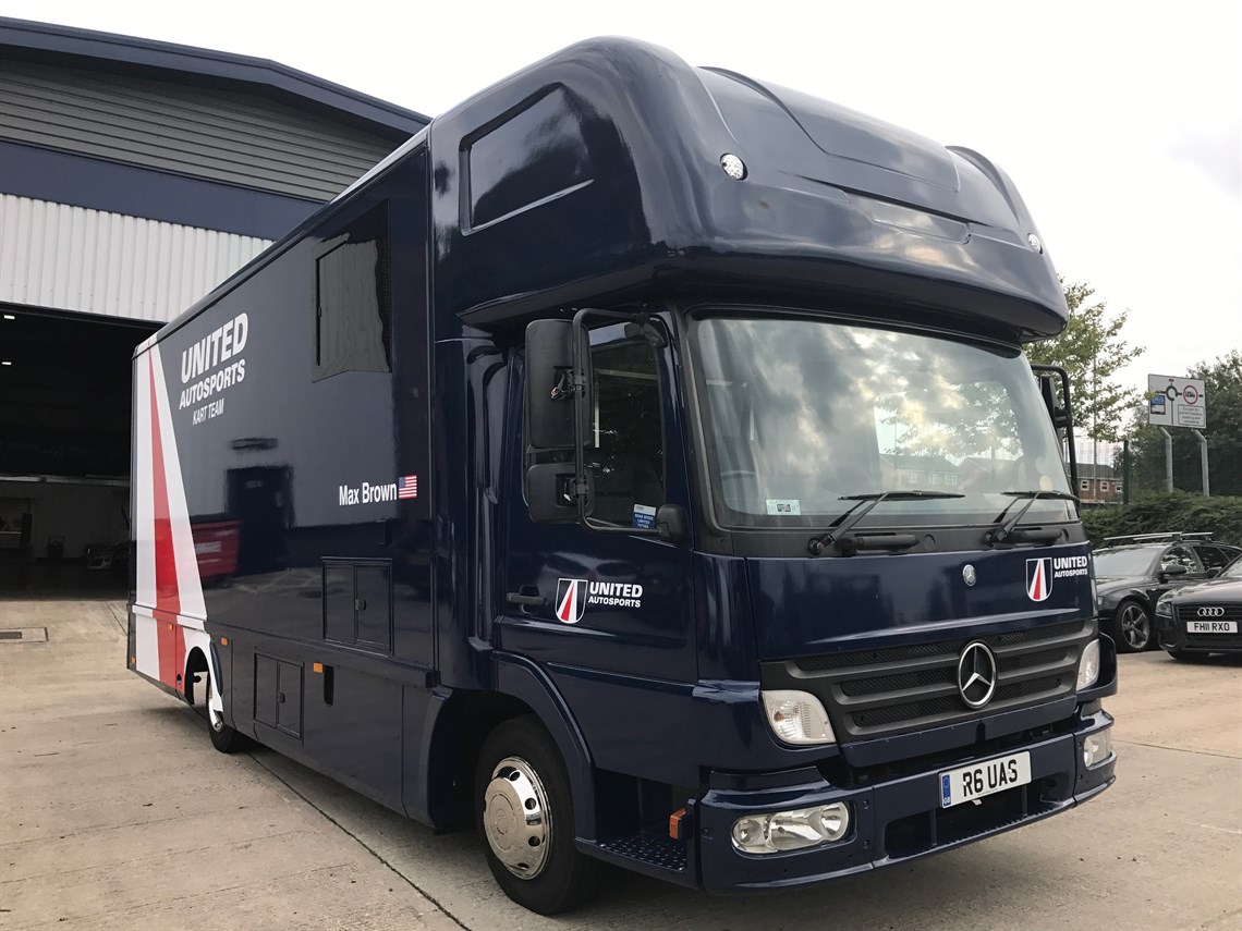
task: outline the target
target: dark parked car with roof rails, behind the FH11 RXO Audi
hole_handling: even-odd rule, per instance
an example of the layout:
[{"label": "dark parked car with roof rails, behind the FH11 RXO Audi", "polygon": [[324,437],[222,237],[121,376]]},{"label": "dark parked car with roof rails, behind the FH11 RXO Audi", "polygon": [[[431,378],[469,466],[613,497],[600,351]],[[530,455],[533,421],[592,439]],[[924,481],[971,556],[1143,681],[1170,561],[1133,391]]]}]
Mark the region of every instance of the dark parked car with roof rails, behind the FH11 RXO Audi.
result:
[{"label": "dark parked car with roof rails, behind the FH11 RXO Audi", "polygon": [[1212,542],[1211,534],[1110,536],[1095,550],[1099,629],[1118,653],[1156,645],[1155,607],[1165,592],[1213,578],[1242,549]]}]

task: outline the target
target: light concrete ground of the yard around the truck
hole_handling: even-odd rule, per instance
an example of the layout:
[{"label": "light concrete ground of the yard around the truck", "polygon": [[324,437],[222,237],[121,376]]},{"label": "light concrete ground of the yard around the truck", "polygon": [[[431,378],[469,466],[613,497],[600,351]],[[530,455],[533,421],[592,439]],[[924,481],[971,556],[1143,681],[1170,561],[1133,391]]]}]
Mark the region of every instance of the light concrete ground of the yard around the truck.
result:
[{"label": "light concrete ground of the yard around the truck", "polygon": [[544,919],[436,837],[271,751],[222,756],[124,668],[123,609],[0,601],[0,927],[1242,927],[1242,662],[1122,658],[1118,783],[912,866],[713,897],[611,871]]}]

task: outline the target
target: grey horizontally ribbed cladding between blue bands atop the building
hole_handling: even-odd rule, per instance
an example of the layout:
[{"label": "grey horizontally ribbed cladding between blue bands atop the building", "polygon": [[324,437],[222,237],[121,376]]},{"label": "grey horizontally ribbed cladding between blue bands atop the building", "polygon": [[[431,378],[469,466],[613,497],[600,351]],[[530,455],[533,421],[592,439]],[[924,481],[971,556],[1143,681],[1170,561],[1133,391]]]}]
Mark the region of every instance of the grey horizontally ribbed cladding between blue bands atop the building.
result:
[{"label": "grey horizontally ribbed cladding between blue bands atop the building", "polygon": [[257,96],[14,61],[0,139],[320,201],[396,148]]}]

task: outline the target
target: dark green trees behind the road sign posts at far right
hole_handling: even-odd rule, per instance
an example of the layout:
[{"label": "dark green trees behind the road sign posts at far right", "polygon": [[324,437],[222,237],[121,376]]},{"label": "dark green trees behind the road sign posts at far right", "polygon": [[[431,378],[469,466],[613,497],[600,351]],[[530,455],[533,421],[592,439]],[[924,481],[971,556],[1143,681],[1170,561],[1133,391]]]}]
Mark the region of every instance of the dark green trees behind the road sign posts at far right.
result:
[{"label": "dark green trees behind the road sign posts at far right", "polygon": [[[1207,463],[1213,495],[1242,495],[1242,353],[1232,350],[1215,362],[1190,366],[1187,375],[1202,379],[1207,397]],[[1185,427],[1172,434],[1174,487],[1202,489],[1202,453],[1199,437]],[[1130,423],[1130,484],[1165,488],[1165,438],[1148,423],[1146,403],[1136,407]],[[1120,464],[1120,463],[1118,463]]]}]

